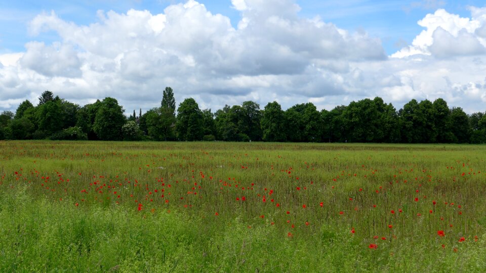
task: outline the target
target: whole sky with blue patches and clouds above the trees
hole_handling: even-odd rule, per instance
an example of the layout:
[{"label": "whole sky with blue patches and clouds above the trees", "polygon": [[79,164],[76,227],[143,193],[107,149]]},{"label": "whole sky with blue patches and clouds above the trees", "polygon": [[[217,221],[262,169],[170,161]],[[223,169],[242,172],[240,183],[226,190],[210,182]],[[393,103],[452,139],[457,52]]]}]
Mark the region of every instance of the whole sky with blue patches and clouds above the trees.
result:
[{"label": "whole sky with blue patches and clouds above the trees", "polygon": [[486,5],[463,0],[0,0],[0,110],[44,90],[126,114],[381,97],[486,110]]}]

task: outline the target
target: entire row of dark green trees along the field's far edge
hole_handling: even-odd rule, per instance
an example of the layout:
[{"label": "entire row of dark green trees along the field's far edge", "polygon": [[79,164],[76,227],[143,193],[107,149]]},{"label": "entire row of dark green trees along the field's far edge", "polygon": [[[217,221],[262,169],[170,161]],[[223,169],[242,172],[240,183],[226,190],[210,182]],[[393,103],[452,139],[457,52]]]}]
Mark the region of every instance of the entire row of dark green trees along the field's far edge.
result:
[{"label": "entire row of dark green trees along the field's far edge", "polygon": [[0,140],[267,141],[362,143],[486,143],[486,115],[449,108],[443,99],[413,99],[396,111],[379,97],[318,111],[312,103],[282,110],[253,101],[212,112],[185,99],[176,109],[166,87],[160,107],[126,117],[116,99],[80,107],[45,91],[34,106],[0,114]]}]

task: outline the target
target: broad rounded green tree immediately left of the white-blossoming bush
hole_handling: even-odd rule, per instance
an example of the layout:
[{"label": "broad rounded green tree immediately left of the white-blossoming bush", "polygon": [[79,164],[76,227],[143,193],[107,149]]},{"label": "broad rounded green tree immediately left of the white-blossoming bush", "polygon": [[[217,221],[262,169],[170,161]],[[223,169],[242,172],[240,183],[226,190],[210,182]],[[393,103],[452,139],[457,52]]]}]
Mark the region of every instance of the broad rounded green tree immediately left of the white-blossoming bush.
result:
[{"label": "broad rounded green tree immediately left of the white-blossoming bush", "polygon": [[121,140],[121,126],[125,124],[126,117],[123,107],[113,98],[105,98],[96,113],[93,130],[100,140]]}]

